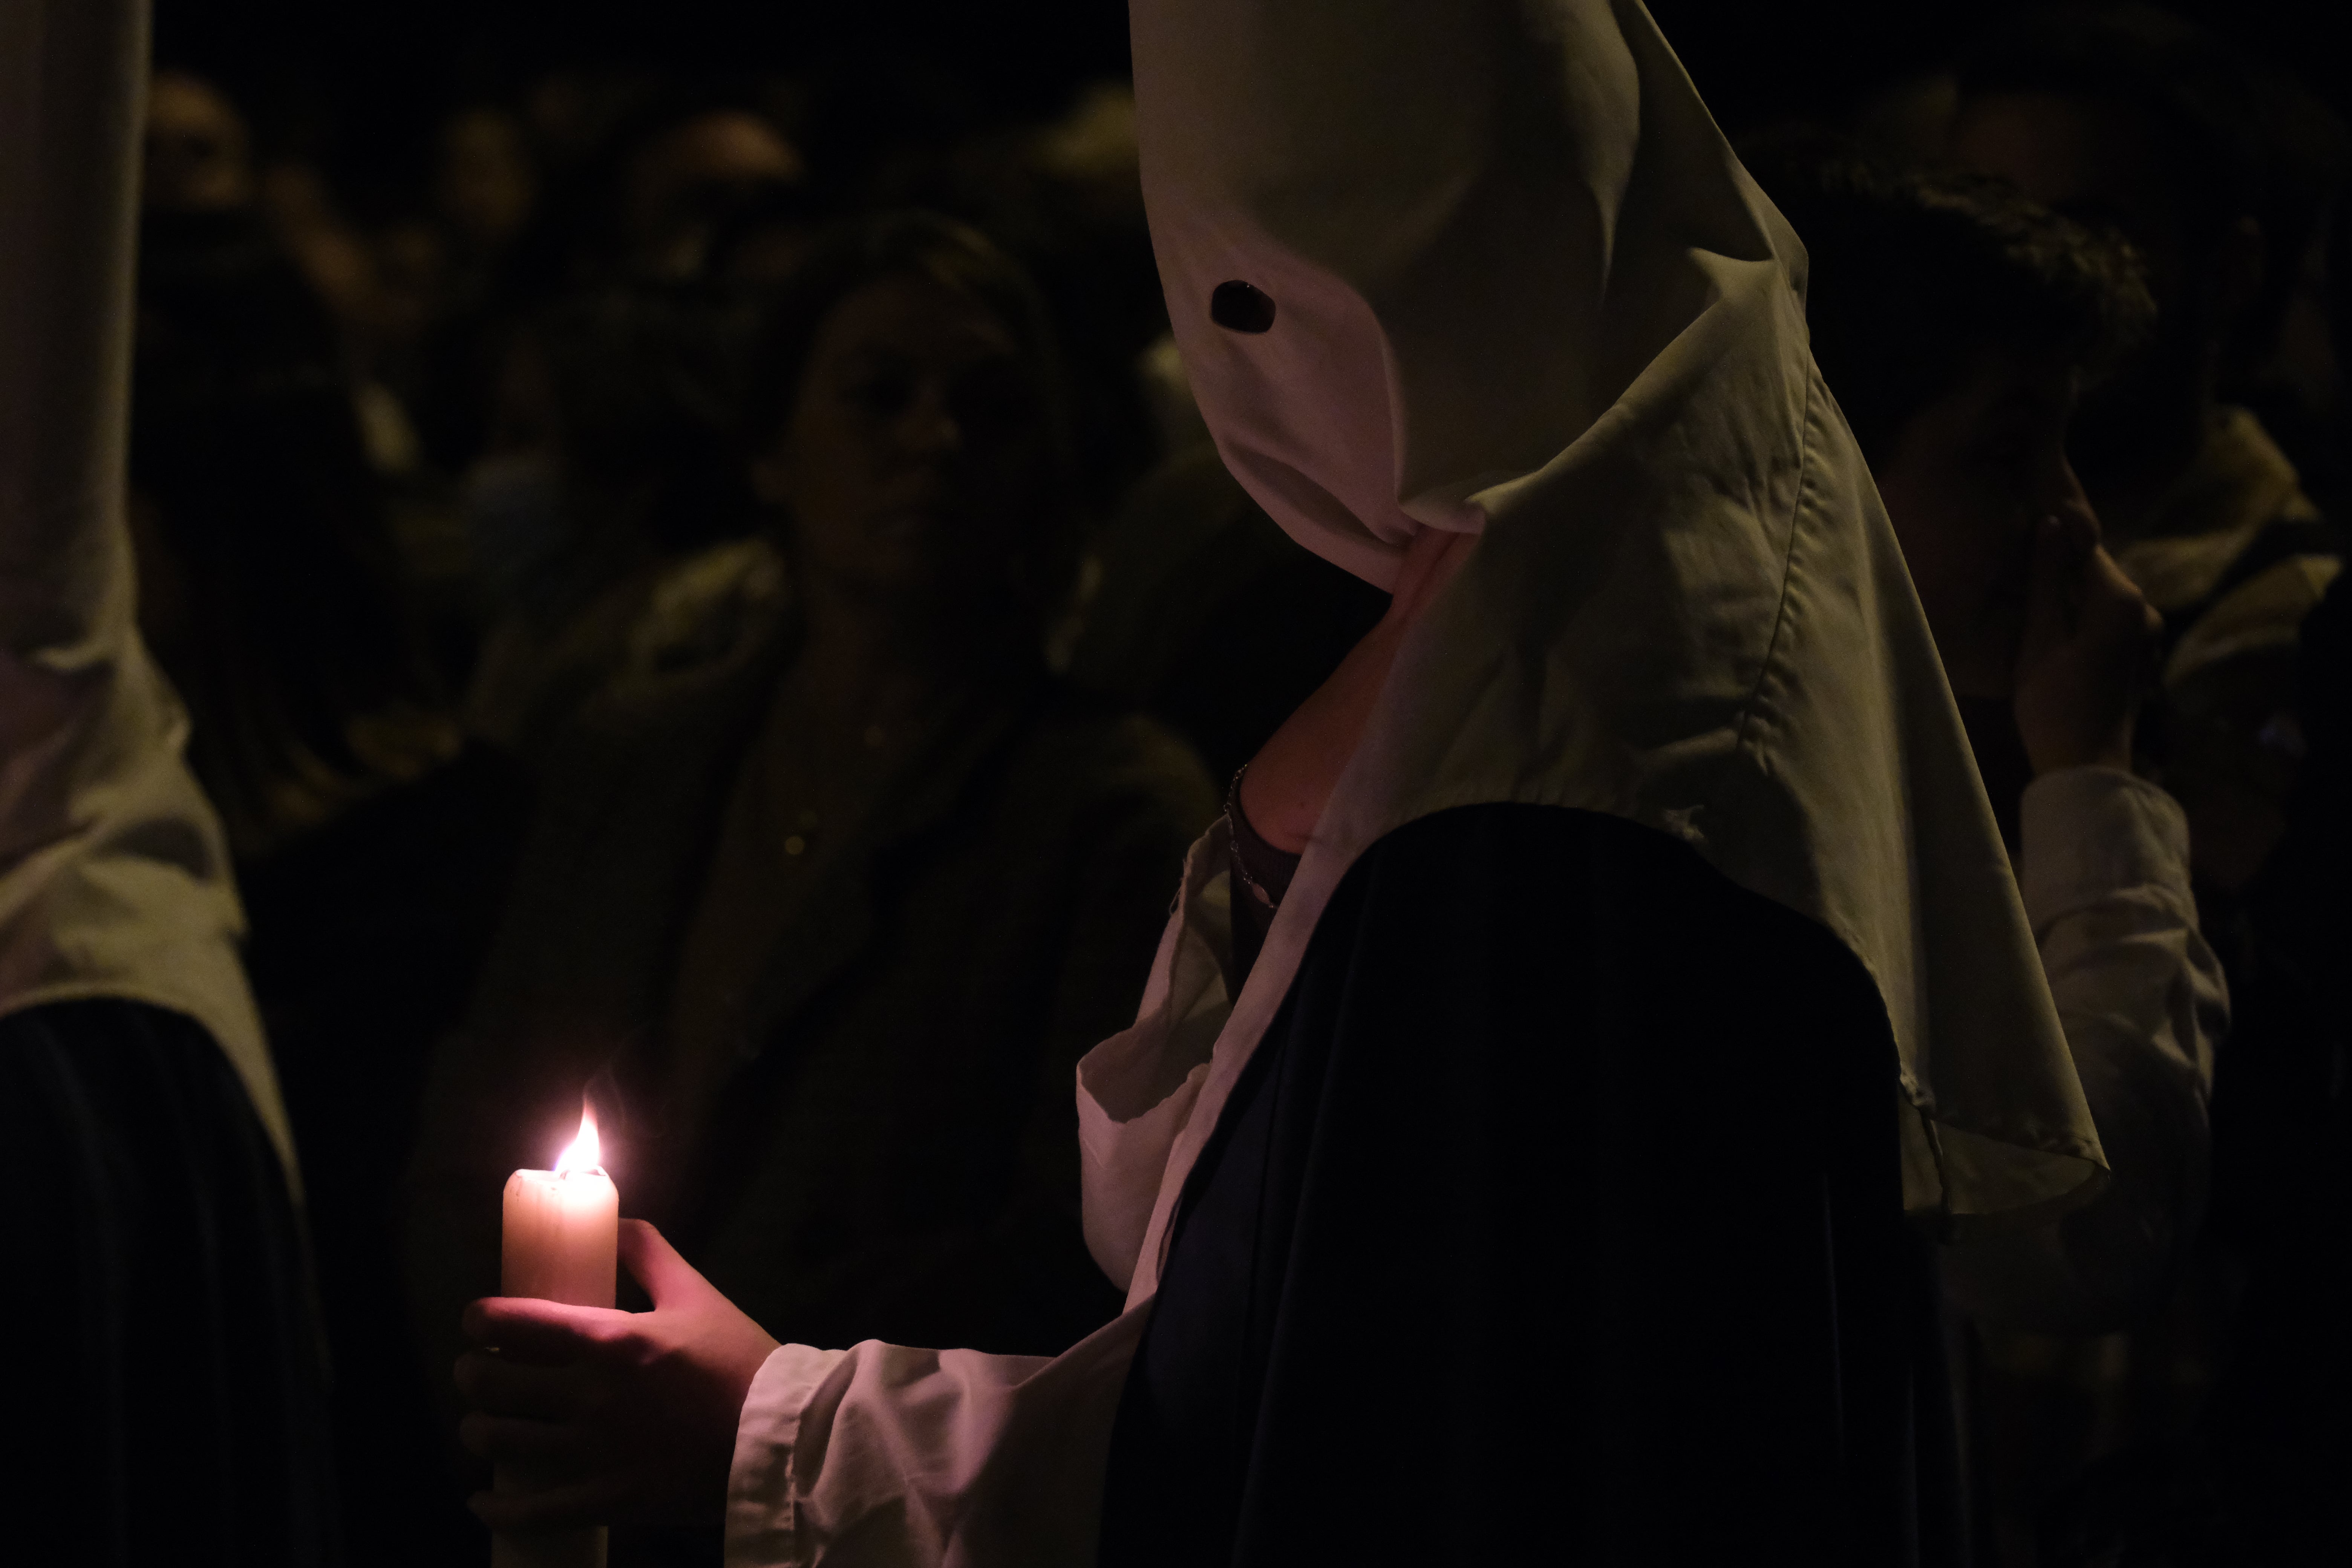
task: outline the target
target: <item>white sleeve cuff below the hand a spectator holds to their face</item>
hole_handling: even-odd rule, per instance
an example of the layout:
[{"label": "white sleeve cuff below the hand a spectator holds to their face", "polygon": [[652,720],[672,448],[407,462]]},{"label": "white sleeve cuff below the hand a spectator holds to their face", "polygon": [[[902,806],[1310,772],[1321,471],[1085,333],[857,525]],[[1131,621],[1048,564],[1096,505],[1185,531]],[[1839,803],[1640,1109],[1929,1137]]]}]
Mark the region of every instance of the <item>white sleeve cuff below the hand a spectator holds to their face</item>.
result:
[{"label": "white sleeve cuff below the hand a spectator holds to their face", "polygon": [[2032,780],[2018,811],[2018,893],[2034,931],[2126,889],[2197,907],[2178,802],[2122,769],[2058,769]]}]

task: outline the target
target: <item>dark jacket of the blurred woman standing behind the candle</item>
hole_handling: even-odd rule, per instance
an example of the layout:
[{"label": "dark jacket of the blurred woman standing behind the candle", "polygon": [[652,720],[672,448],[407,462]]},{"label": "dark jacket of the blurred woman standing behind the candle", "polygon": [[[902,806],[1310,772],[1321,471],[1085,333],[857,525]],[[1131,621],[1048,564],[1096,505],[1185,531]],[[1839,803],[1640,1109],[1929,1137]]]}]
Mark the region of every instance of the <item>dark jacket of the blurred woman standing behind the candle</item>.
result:
[{"label": "dark jacket of the blurred woman standing behind the candle", "polygon": [[428,1086],[428,1342],[454,1352],[459,1309],[496,1288],[501,1182],[553,1159],[595,1084],[623,1213],[769,1333],[1058,1352],[1117,1309],[1080,1234],[1075,1063],[1134,1020],[1216,795],[1178,741],[1042,675],[957,705],[811,856],[731,1060],[682,1105],[680,945],[790,649],[781,611],[729,614],[729,646],[696,630],[687,668],[623,675],[550,755]]}]

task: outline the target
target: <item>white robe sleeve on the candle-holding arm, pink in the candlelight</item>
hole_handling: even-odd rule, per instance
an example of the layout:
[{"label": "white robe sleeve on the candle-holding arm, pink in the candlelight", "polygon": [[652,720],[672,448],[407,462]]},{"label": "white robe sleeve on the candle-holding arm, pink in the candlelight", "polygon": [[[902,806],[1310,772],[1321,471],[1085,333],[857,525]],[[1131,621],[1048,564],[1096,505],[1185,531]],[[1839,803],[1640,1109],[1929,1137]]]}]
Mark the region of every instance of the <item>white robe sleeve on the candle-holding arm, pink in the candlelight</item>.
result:
[{"label": "white robe sleeve on the candle-holding arm, pink in the candlelight", "polygon": [[[1087,1246],[1136,1276],[1169,1152],[1232,1011],[1225,825],[1185,858],[1143,1011],[1077,1067]],[[1089,1563],[1103,1460],[1150,1295],[1075,1349],[776,1349],[743,1399],[727,1563]]]}]

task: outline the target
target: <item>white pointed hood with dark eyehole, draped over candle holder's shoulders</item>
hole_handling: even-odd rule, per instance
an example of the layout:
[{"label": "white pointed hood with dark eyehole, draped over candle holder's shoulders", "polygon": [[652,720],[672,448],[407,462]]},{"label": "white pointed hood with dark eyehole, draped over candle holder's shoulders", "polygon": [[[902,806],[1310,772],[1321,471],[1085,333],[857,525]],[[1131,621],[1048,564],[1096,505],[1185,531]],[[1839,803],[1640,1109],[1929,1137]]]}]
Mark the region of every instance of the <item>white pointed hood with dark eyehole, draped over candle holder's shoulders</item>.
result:
[{"label": "white pointed hood with dark eyehole, draped over candle holder's shoulders", "polygon": [[[2089,1197],[2098,1135],[1806,350],[1804,252],[1649,14],[1134,0],[1131,21],[1152,242],[1225,463],[1374,583],[1421,527],[1484,534],[1235,999],[1136,1293],[1348,865],[1477,802],[1672,832],[1835,931],[1900,1048],[1912,1208],[1966,1227]],[[1225,284],[1247,289],[1216,303]]]}]

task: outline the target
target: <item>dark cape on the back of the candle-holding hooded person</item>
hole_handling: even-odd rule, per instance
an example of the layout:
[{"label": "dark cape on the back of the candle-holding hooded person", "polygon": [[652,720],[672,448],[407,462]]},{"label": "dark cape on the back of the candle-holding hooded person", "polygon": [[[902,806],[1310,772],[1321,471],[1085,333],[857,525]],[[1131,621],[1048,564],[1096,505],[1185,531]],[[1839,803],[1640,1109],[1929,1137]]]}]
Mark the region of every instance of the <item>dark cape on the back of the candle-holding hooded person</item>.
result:
[{"label": "dark cape on the back of the candle-holding hooded person", "polygon": [[1101,1561],[1966,1561],[1896,1161],[1818,924],[1609,816],[1392,832],[1185,1182]]}]

